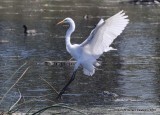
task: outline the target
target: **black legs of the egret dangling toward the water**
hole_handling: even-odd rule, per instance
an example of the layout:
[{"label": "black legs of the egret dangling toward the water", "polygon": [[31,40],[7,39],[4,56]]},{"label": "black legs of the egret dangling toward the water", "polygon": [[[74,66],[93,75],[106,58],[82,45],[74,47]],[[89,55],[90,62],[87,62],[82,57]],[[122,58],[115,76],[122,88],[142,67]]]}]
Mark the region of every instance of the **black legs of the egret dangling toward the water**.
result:
[{"label": "black legs of the egret dangling toward the water", "polygon": [[68,81],[68,83],[64,86],[64,88],[61,90],[61,92],[58,94],[57,99],[60,98],[62,96],[62,94],[66,91],[67,87],[69,86],[69,84],[74,80],[75,76],[76,76],[76,72],[77,70],[75,70],[71,76],[71,79]]}]

